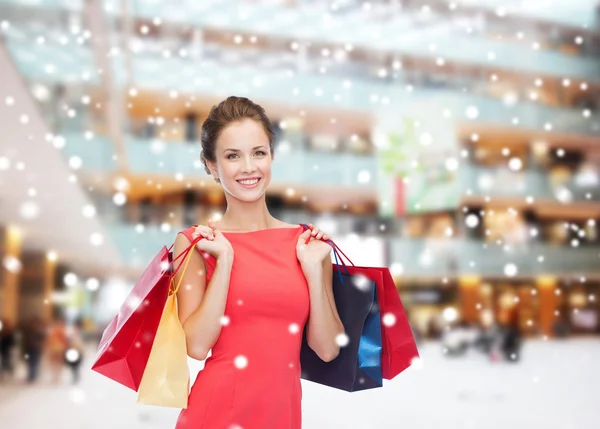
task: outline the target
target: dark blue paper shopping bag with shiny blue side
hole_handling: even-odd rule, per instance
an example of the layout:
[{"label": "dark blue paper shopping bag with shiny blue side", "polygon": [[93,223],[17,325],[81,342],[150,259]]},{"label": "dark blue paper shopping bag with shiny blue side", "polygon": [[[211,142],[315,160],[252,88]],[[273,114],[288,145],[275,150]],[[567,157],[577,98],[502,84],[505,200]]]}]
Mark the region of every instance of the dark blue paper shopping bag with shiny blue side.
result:
[{"label": "dark blue paper shopping bag with shiny blue side", "polygon": [[333,251],[333,295],[349,342],[334,360],[324,362],[309,347],[305,328],[300,350],[301,378],[347,392],[381,387],[381,315],[376,283],[351,275],[338,261],[335,247]]}]

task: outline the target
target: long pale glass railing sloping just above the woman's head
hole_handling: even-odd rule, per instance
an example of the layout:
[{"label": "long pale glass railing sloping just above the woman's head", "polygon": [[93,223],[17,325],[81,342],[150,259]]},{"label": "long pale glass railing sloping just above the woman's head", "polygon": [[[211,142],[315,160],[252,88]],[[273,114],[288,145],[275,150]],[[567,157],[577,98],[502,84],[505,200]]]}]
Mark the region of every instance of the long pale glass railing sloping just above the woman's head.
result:
[{"label": "long pale glass railing sloping just above the woman's head", "polygon": [[[88,46],[71,40],[67,47],[59,43],[35,42],[33,30],[10,29],[7,46],[13,60],[30,83],[49,87],[62,83],[70,88],[99,82],[95,60]],[[122,85],[122,59],[114,58],[115,80]],[[566,70],[566,69],[565,69]],[[600,70],[598,71],[600,76]],[[160,73],[161,78],[157,76]],[[149,89],[203,93],[225,97],[231,93],[261,100],[299,104],[330,109],[350,109],[372,113],[383,107],[394,110],[407,103],[439,106],[452,112],[457,123],[484,123],[504,128],[528,130],[549,129],[554,132],[597,135],[597,124],[579,109],[555,108],[522,101],[507,105],[484,95],[465,94],[452,89],[415,87],[408,94],[404,85],[375,82],[350,75],[351,88],[345,88],[338,76],[289,73],[289,70],[264,69],[250,64],[237,67],[217,61],[191,62],[182,58],[133,59],[135,85]],[[221,89],[224,88],[224,89]],[[374,96],[377,100],[374,101]],[[467,118],[466,111],[476,109],[476,117]],[[410,109],[409,109],[410,111]],[[515,122],[516,121],[516,122]]]}]

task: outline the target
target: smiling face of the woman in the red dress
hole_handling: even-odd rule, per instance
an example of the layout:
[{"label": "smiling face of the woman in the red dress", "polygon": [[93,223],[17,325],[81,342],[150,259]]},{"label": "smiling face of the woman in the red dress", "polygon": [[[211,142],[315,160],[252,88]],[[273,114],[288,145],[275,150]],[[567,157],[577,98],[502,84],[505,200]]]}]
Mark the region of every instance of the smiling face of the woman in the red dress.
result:
[{"label": "smiling face of the woman in the red dress", "polygon": [[[240,200],[256,200],[271,182],[272,154],[269,138],[262,125],[251,119],[228,125],[217,141],[216,175],[229,194]],[[244,185],[244,179],[258,178],[258,183]]]}]

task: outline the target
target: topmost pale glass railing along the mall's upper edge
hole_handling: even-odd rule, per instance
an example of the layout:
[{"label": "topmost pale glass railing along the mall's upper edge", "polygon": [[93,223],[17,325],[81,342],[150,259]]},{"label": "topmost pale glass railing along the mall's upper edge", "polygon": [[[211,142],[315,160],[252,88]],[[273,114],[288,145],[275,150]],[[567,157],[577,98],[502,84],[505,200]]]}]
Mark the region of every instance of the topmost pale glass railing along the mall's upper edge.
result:
[{"label": "topmost pale glass railing along the mall's upper edge", "polygon": [[[16,1],[3,0],[4,4],[16,4]],[[76,2],[77,6],[79,2]],[[106,1],[109,13],[119,13],[120,8],[114,1]],[[36,3],[34,3],[35,5]],[[44,1],[44,7],[64,7],[68,2]],[[110,5],[110,6],[109,6]],[[30,5],[28,5],[30,6]],[[533,51],[530,46],[498,42],[485,38],[463,36],[454,28],[447,18],[432,20],[426,29],[419,28],[418,13],[405,10],[403,15],[389,20],[363,19],[351,22],[355,15],[338,15],[329,25],[305,28],[303,23],[321,19],[323,13],[331,11],[324,5],[299,5],[290,9],[287,5],[262,4],[252,5],[238,1],[210,3],[182,3],[177,7],[165,9],[159,2],[138,0],[133,2],[132,13],[138,18],[152,20],[161,17],[164,21],[182,24],[217,27],[222,30],[238,31],[254,34],[256,31],[267,32],[278,38],[290,40],[318,40],[324,44],[352,44],[372,51],[391,51],[399,54],[412,54],[418,57],[436,59],[443,57],[446,61],[468,62],[485,67],[523,70],[542,75],[554,75],[596,80],[600,76],[600,64],[589,58],[564,55],[557,52]],[[543,8],[519,8],[520,13],[532,14]],[[553,9],[553,8],[547,8]],[[558,10],[567,11],[561,13]],[[588,11],[594,14],[593,5],[577,7],[573,2],[563,5],[557,11],[546,13],[546,17],[584,16]],[[360,15],[359,15],[360,16]],[[270,17],[268,20],[265,17]],[[588,21],[591,18],[586,18]],[[582,22],[578,22],[578,26]],[[379,37],[375,37],[379,35]],[[435,46],[435,49],[428,47]],[[457,49],[458,47],[458,49]]]}]

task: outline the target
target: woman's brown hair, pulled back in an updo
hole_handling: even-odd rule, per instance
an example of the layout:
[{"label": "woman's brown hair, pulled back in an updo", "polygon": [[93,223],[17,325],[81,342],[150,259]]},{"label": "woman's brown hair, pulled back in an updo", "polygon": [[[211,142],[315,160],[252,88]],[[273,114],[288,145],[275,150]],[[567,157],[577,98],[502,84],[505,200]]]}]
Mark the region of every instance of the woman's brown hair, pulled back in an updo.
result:
[{"label": "woman's brown hair, pulled back in an updo", "polygon": [[[269,139],[269,150],[271,156],[274,154],[275,133],[273,125],[260,105],[250,101],[246,97],[227,97],[210,109],[208,118],[202,124],[202,134],[200,137],[202,143],[202,153],[200,160],[204,164],[204,170],[208,174],[212,174],[208,168],[207,161],[216,163],[215,150],[217,148],[217,140],[223,130],[233,122],[241,122],[244,119],[252,119],[262,125],[265,134]],[[220,183],[219,179],[215,182]]]}]

